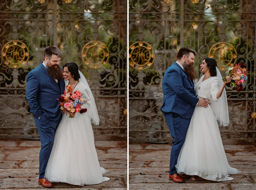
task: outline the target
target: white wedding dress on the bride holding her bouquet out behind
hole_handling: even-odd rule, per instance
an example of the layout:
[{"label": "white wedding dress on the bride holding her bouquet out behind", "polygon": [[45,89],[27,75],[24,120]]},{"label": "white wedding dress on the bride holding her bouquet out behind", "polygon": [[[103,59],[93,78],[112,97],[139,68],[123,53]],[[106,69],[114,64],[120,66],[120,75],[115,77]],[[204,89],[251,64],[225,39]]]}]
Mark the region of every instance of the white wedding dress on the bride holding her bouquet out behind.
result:
[{"label": "white wedding dress on the bride holding her bouquet out behind", "polygon": [[[202,81],[204,75],[195,85],[198,98],[206,101],[218,101],[217,92],[220,83],[217,77]],[[233,180],[230,174],[240,173],[231,168],[223,148],[219,126],[211,109],[195,106],[186,139],[175,166],[179,174],[197,175],[206,180]]]}]

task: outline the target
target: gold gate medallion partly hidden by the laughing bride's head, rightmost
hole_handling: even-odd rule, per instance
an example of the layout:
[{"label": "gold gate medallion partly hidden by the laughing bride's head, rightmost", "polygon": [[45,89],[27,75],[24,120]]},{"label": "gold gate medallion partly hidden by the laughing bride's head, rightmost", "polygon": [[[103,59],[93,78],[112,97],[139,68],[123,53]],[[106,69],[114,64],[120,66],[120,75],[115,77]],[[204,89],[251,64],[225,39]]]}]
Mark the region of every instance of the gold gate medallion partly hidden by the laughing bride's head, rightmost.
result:
[{"label": "gold gate medallion partly hidden by the laughing bride's head, rightmost", "polygon": [[214,58],[220,70],[224,71],[228,66],[232,67],[236,64],[237,53],[231,44],[219,42],[211,47],[209,57]]}]

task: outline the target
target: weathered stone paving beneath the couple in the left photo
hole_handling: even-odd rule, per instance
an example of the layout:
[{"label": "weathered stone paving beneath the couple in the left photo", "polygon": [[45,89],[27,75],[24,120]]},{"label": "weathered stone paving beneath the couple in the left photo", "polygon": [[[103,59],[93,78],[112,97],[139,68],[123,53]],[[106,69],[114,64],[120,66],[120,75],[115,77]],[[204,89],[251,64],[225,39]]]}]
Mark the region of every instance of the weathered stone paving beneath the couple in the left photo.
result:
[{"label": "weathered stone paving beneath the couple in the left photo", "polygon": [[[124,137],[125,138],[125,137]],[[100,166],[110,172],[103,176],[110,181],[98,185],[77,186],[54,183],[55,189],[108,189],[122,190],[127,187],[127,143],[121,140],[100,140],[95,146]],[[0,140],[0,189],[41,189],[36,177],[39,173],[40,141]]]}]

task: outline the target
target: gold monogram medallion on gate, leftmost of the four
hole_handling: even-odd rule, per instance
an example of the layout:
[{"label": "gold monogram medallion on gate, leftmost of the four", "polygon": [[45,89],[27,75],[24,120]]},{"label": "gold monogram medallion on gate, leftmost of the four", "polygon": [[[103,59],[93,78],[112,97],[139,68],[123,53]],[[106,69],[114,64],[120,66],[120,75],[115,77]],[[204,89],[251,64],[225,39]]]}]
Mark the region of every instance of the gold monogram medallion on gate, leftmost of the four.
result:
[{"label": "gold monogram medallion on gate, leftmost of the four", "polygon": [[1,57],[8,67],[19,68],[27,63],[29,50],[23,42],[13,40],[3,46]]}]

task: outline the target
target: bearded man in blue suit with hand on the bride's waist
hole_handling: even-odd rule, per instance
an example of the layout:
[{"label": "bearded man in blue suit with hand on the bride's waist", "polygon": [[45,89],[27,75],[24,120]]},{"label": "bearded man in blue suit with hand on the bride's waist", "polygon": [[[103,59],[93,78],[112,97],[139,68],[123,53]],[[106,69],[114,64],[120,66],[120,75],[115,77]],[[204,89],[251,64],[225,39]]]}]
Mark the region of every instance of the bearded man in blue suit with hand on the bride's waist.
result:
[{"label": "bearded man in blue suit with hand on the bride's waist", "polygon": [[185,174],[178,175],[175,165],[185,141],[194,108],[196,105],[208,107],[203,98],[195,96],[193,82],[196,77],[193,67],[195,56],[194,50],[181,48],[176,56],[177,61],[165,71],[162,81],[164,98],[161,111],[173,138],[169,180],[177,183],[182,183],[184,179],[191,177]]}]

